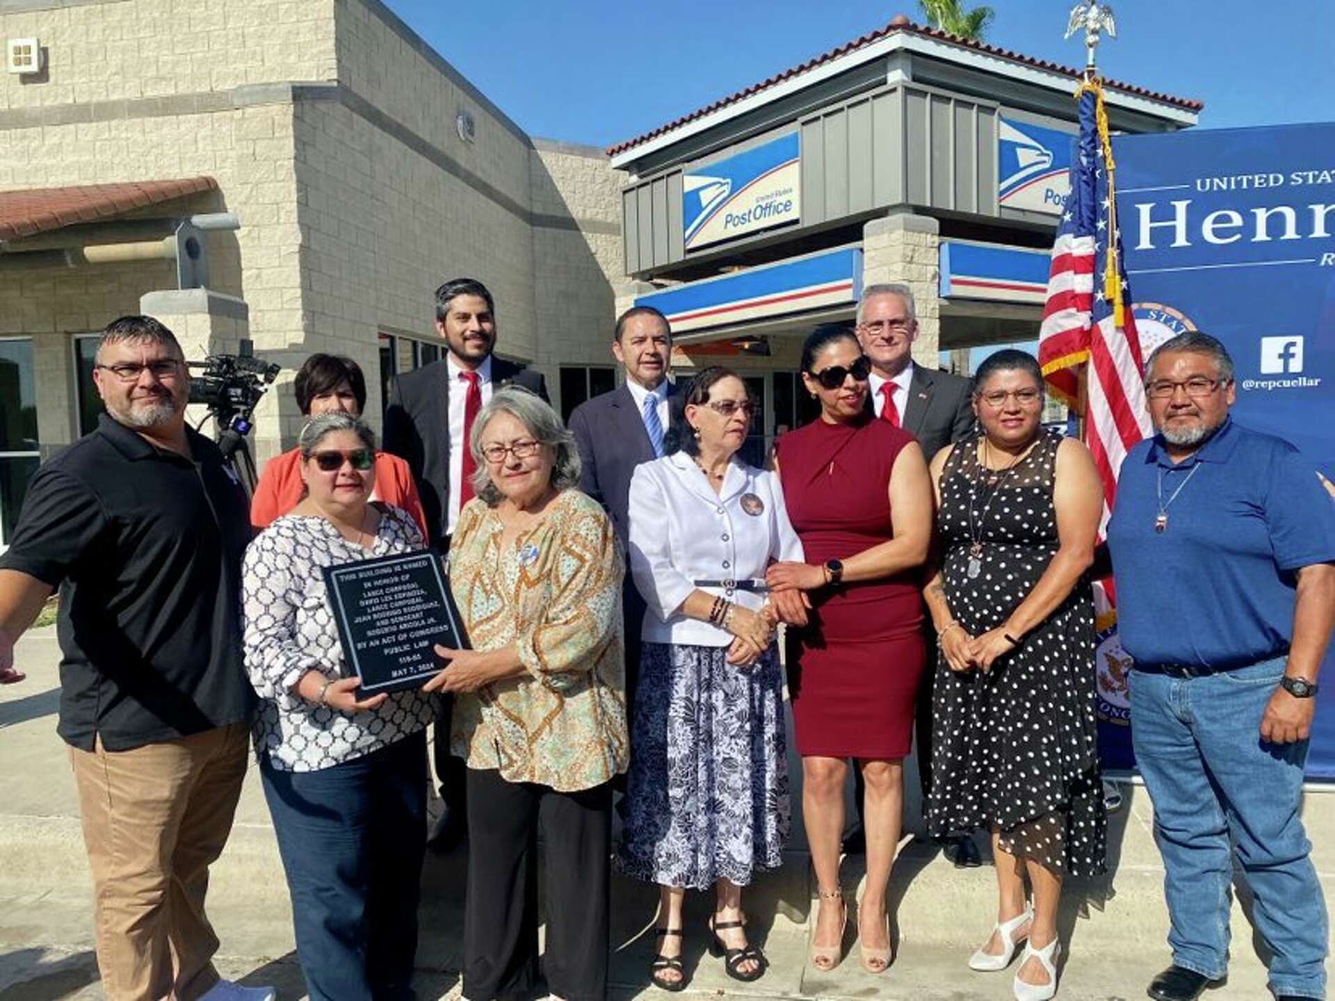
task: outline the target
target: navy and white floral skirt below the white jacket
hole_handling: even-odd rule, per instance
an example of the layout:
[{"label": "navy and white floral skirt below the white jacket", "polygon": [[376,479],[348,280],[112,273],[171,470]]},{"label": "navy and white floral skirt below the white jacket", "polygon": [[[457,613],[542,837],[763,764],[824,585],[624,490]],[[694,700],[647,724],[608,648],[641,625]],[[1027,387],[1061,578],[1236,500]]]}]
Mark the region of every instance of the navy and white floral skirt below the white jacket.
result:
[{"label": "navy and white floral skirt below the white jacket", "polygon": [[618,862],[666,886],[738,886],[784,861],[790,806],[784,678],[773,646],[645,643]]}]

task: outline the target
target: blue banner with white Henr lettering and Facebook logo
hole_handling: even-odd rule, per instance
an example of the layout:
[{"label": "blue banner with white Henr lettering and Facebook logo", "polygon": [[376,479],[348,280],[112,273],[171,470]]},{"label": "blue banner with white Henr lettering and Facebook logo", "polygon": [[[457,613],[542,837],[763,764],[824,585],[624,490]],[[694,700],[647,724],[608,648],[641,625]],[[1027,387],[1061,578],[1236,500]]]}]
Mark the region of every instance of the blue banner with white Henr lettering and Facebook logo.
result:
[{"label": "blue banner with white Henr lettering and Facebook logo", "polygon": [[[1185,330],[1219,338],[1239,423],[1335,480],[1335,124],[1121,136],[1113,156],[1145,355]],[[1323,671],[1307,771],[1335,779],[1330,650]]]}]

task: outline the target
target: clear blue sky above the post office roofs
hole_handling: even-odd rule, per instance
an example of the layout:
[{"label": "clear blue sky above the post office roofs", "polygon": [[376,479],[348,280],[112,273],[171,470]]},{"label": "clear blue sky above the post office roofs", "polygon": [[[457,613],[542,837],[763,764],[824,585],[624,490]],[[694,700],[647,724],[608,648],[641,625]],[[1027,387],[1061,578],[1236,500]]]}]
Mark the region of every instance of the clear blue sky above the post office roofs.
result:
[{"label": "clear blue sky above the post office roofs", "polygon": [[[533,136],[610,145],[842,45],[917,0],[386,0]],[[1073,0],[993,0],[987,41],[1063,65]],[[1206,103],[1202,128],[1335,120],[1335,0],[1112,0],[1105,76]]]}]

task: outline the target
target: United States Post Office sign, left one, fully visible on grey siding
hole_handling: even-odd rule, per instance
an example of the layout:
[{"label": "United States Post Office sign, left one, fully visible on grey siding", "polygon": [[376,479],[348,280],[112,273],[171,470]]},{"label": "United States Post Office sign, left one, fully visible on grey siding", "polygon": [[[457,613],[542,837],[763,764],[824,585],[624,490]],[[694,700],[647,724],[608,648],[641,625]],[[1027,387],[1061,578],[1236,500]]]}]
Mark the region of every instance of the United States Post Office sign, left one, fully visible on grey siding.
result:
[{"label": "United States Post Office sign, left one, fully visible on grey siding", "polygon": [[682,175],[688,251],[770,230],[802,218],[801,145],[788,132]]}]

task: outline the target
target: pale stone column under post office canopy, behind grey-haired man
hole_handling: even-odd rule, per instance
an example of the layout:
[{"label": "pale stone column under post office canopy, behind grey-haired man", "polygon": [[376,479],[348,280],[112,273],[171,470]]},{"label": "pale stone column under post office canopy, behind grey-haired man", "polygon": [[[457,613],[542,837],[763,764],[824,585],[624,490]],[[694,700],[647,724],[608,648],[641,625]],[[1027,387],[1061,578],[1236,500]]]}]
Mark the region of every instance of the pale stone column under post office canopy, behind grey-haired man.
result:
[{"label": "pale stone column under post office canopy, behind grey-haired man", "polygon": [[913,291],[918,318],[913,360],[932,370],[940,364],[940,243],[936,219],[925,215],[892,212],[862,227],[862,287],[893,282]]}]

